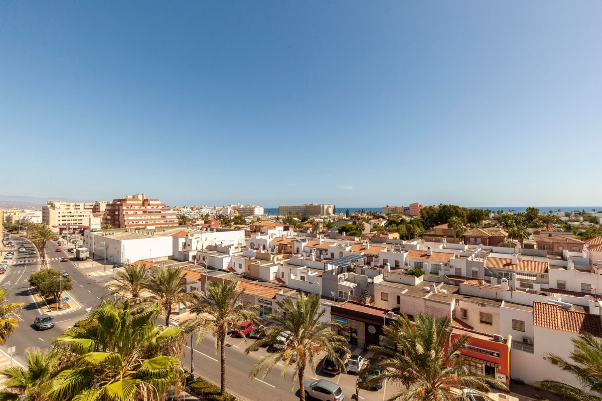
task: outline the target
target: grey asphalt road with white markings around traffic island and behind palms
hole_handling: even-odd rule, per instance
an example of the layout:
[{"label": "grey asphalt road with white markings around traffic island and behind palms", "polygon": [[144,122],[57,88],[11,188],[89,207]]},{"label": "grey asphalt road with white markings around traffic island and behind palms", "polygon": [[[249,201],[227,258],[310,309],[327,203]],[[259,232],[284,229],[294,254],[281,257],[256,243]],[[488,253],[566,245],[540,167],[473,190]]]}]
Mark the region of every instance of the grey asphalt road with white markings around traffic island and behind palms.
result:
[{"label": "grey asphalt road with white markings around traffic island and behind palms", "polygon": [[[69,291],[69,296],[81,305],[79,310],[71,313],[54,316],[55,326],[52,329],[45,331],[37,331],[34,328],[33,321],[40,313],[45,313],[46,310],[39,310],[34,302],[27,278],[29,274],[40,269],[39,256],[29,255],[28,252],[19,253],[19,245],[25,245],[27,251],[35,249],[35,246],[25,238],[12,236],[17,248],[14,249],[15,257],[9,265],[7,272],[0,276],[0,286],[6,287],[10,291],[11,302],[23,302],[21,311],[21,319],[23,322],[16,332],[8,338],[7,343],[2,345],[2,350],[8,352],[9,347],[16,347],[13,354],[15,360],[25,364],[23,358],[23,350],[28,347],[46,347],[50,346],[52,340],[65,329],[72,326],[78,320],[84,319],[87,316],[87,308],[94,308],[100,302],[100,298],[106,292],[105,284],[111,280],[111,275],[90,277],[87,275],[90,268],[76,268],[73,261],[60,262],[62,257],[72,257],[74,254],[67,254],[66,251],[55,252],[55,249],[66,249],[72,245],[58,246],[55,242],[49,242],[46,245],[46,256],[48,258],[48,266],[58,271],[69,273],[73,280],[73,290]],[[268,349],[262,348],[249,355],[244,355],[244,349],[247,344],[253,340],[245,340],[242,338],[229,337],[226,346],[226,379],[228,390],[237,396],[247,401],[264,401],[270,400],[296,400],[297,399],[297,381],[293,385],[292,369],[289,368],[284,377],[281,377],[282,364],[277,366],[270,374],[262,379],[261,375],[256,379],[249,378],[249,372],[253,365],[259,359],[269,352]],[[190,370],[190,340],[182,355],[184,368]],[[345,399],[350,400],[352,394],[355,393],[355,375],[330,375],[323,373],[321,370],[321,360],[317,363],[317,370],[311,371],[308,367],[305,376],[306,379],[317,378],[327,379],[337,383],[343,388]],[[219,357],[216,355],[213,338],[205,338],[199,345],[194,346],[194,372],[196,375],[219,384],[220,382],[220,364]],[[387,397],[391,397],[393,392],[386,385],[384,388],[377,391],[360,390],[359,396],[361,401],[382,401]]]}]

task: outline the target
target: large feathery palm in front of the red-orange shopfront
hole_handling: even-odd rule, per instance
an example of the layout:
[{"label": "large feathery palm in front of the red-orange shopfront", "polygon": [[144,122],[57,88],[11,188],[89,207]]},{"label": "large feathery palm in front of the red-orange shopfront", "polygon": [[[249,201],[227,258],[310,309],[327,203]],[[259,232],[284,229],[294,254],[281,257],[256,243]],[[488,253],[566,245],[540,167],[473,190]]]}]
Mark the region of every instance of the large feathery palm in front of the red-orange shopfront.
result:
[{"label": "large feathery palm in front of the red-orange shopfront", "polygon": [[389,400],[451,401],[458,399],[455,391],[464,388],[507,390],[495,378],[470,372],[464,366],[460,350],[470,343],[470,335],[452,337],[449,317],[436,319],[430,313],[418,313],[412,322],[403,314],[391,325],[383,326],[383,332],[399,349],[369,346],[385,358],[371,361],[380,373],[363,379],[362,384],[385,380],[400,385],[401,390]]}]

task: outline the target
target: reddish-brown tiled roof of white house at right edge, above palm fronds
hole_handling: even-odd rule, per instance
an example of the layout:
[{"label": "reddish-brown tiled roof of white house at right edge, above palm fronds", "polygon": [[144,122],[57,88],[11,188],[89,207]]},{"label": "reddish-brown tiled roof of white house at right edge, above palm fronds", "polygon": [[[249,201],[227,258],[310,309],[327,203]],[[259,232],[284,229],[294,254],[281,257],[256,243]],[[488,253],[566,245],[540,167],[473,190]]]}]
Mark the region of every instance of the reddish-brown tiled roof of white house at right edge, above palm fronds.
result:
[{"label": "reddish-brown tiled roof of white house at right edge, above palm fronds", "polygon": [[596,337],[602,337],[600,316],[566,310],[558,305],[545,302],[533,302],[533,324],[548,329],[578,334],[588,332]]}]

